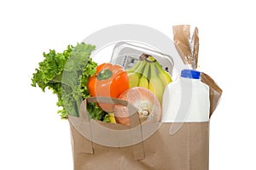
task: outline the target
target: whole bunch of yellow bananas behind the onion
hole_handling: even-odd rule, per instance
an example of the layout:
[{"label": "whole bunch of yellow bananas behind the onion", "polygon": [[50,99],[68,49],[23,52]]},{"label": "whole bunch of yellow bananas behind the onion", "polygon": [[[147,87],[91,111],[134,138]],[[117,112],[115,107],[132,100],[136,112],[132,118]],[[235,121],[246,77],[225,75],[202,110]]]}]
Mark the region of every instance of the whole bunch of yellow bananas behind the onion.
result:
[{"label": "whole bunch of yellow bananas behind the onion", "polygon": [[127,70],[130,88],[148,88],[162,103],[162,97],[167,84],[172,82],[171,75],[164,71],[159,62],[152,56],[141,57],[136,65]]}]

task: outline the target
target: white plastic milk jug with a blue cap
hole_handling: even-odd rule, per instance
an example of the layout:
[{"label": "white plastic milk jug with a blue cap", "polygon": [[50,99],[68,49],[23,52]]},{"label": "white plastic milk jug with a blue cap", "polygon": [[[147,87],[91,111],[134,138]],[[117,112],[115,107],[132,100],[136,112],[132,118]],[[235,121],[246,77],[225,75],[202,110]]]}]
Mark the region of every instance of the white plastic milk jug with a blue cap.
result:
[{"label": "white plastic milk jug with a blue cap", "polygon": [[176,82],[166,86],[161,122],[209,121],[209,87],[200,76],[200,71],[186,69]]}]

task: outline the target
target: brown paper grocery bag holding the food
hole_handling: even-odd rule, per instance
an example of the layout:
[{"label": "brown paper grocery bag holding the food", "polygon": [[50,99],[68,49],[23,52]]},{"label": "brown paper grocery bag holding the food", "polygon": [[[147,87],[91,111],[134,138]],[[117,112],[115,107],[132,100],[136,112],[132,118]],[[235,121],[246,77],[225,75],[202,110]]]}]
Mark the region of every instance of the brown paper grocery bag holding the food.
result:
[{"label": "brown paper grocery bag holding the food", "polygon": [[208,169],[209,122],[184,122],[171,135],[172,123],[140,125],[134,118],[128,127],[90,120],[86,102],[80,117],[68,117],[74,170]]}]

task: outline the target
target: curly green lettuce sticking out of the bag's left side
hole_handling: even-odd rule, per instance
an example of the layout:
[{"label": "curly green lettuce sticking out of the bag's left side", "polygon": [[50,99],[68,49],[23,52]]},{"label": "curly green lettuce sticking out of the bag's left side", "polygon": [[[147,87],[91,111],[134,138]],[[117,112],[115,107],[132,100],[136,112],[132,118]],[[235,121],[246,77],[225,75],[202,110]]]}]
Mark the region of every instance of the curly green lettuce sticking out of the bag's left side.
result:
[{"label": "curly green lettuce sticking out of the bag's left side", "polygon": [[[90,58],[95,46],[77,43],[68,45],[62,53],[49,50],[44,53],[44,60],[39,63],[36,72],[32,75],[32,86],[43,91],[49,88],[56,94],[56,105],[62,107],[58,113],[61,118],[67,115],[79,116],[79,106],[82,100],[89,97],[87,83],[90,76],[96,73],[96,62]],[[91,118],[103,120],[106,113],[95,104],[88,104]]]}]

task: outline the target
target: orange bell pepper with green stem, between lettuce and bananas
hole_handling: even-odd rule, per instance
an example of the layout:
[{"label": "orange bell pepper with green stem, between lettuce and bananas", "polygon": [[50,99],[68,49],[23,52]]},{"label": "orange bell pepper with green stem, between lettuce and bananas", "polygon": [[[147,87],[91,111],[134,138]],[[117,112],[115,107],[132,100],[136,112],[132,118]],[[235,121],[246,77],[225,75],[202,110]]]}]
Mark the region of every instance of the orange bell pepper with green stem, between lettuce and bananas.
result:
[{"label": "orange bell pepper with green stem, between lettuce and bananas", "polygon": [[[96,75],[89,78],[88,89],[90,96],[118,98],[129,88],[126,71],[120,65],[103,63],[96,67]],[[113,104],[98,103],[103,111],[113,112]]]}]

